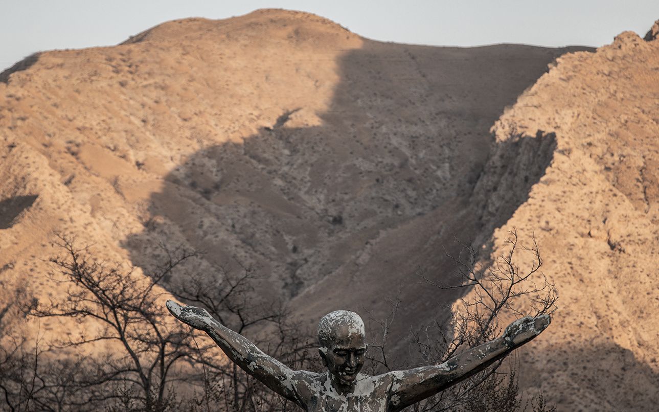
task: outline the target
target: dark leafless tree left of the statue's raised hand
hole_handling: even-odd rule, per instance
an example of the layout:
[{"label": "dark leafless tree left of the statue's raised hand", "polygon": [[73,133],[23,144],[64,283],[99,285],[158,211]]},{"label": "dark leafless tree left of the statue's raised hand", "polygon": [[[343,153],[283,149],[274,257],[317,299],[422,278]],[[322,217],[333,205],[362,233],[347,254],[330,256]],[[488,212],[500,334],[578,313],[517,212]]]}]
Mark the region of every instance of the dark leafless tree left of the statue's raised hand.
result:
[{"label": "dark leafless tree left of the statue's raised hand", "polygon": [[[166,311],[159,303],[162,292],[156,285],[194,252],[177,249],[167,254],[163,265],[149,278],[137,276],[134,268],[123,270],[119,264],[97,260],[88,248],[76,249],[72,237],[57,235],[57,239],[65,254],[50,259],[55,266],[51,277],[67,283],[66,299],[40,303],[29,308],[28,314],[100,322],[103,329],[99,334],[69,339],[59,347],[111,342],[121,348],[88,357],[90,376],[80,382],[86,396],[69,401],[107,403],[128,393],[141,410],[166,409],[167,384],[179,379],[171,371],[192,353],[192,333],[165,319]],[[117,393],[114,389],[118,385],[125,386],[127,392]]]}]

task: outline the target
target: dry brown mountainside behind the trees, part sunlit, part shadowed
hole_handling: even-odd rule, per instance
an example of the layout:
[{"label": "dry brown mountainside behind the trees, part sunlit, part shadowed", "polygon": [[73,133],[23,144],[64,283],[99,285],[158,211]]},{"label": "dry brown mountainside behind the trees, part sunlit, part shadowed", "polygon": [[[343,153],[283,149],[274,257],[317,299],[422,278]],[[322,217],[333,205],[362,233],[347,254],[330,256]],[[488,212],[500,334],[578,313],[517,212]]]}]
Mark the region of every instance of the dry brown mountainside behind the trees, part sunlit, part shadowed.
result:
[{"label": "dry brown mountainside behind the trees, part sunlit, part shadowed", "polygon": [[53,231],[145,274],[186,245],[206,251],[190,270],[253,266],[309,324],[399,293],[404,350],[453,298],[415,270],[441,280],[455,237],[496,256],[517,227],[561,295],[519,355],[525,387],[561,411],[648,409],[658,27],[597,50],[428,47],[261,10],[28,57],[0,73],[0,303],[61,296]]}]

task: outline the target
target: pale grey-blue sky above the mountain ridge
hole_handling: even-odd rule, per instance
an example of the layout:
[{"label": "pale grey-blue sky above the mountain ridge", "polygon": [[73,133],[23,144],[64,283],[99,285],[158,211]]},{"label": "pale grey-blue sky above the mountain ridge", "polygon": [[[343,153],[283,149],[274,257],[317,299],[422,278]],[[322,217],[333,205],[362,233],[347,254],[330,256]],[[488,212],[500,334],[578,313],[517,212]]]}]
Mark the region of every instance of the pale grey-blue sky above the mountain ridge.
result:
[{"label": "pale grey-blue sky above the mountain ridge", "polygon": [[316,13],[374,40],[460,46],[600,46],[659,19],[659,0],[0,0],[0,71],[35,51],[114,45],[167,20],[266,7]]}]

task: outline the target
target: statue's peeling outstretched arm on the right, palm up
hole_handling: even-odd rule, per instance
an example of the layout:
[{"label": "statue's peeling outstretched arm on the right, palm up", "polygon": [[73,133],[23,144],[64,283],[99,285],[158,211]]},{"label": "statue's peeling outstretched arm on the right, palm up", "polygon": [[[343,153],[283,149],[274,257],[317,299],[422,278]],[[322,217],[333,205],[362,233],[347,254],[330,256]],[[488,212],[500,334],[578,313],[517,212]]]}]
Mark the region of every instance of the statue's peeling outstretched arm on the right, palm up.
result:
[{"label": "statue's peeling outstretched arm on the right, palm up", "polygon": [[473,376],[538,336],[550,322],[548,315],[527,316],[511,323],[500,338],[463,351],[441,365],[390,372],[392,410],[399,411]]}]

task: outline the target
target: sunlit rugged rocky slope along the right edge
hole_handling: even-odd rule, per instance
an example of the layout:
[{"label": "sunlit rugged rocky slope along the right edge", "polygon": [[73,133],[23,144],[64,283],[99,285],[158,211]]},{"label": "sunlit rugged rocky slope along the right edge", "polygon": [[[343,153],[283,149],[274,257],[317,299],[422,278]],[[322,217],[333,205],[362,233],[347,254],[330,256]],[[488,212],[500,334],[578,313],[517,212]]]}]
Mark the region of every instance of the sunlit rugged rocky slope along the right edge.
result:
[{"label": "sunlit rugged rocky slope along the right edge", "polygon": [[[518,167],[523,160],[509,158],[507,146],[517,136],[555,136],[551,163],[529,199],[494,231],[492,258],[513,227],[538,239],[560,309],[520,362],[527,383],[543,388],[559,410],[633,411],[657,401],[655,37],[652,30],[646,40],[624,32],[595,53],[560,57],[494,125],[503,152],[494,153],[475,192],[485,214],[496,210],[512,188],[525,185],[521,170],[532,169]],[[505,183],[493,178],[511,167]],[[486,187],[491,192],[478,196]]]}]

